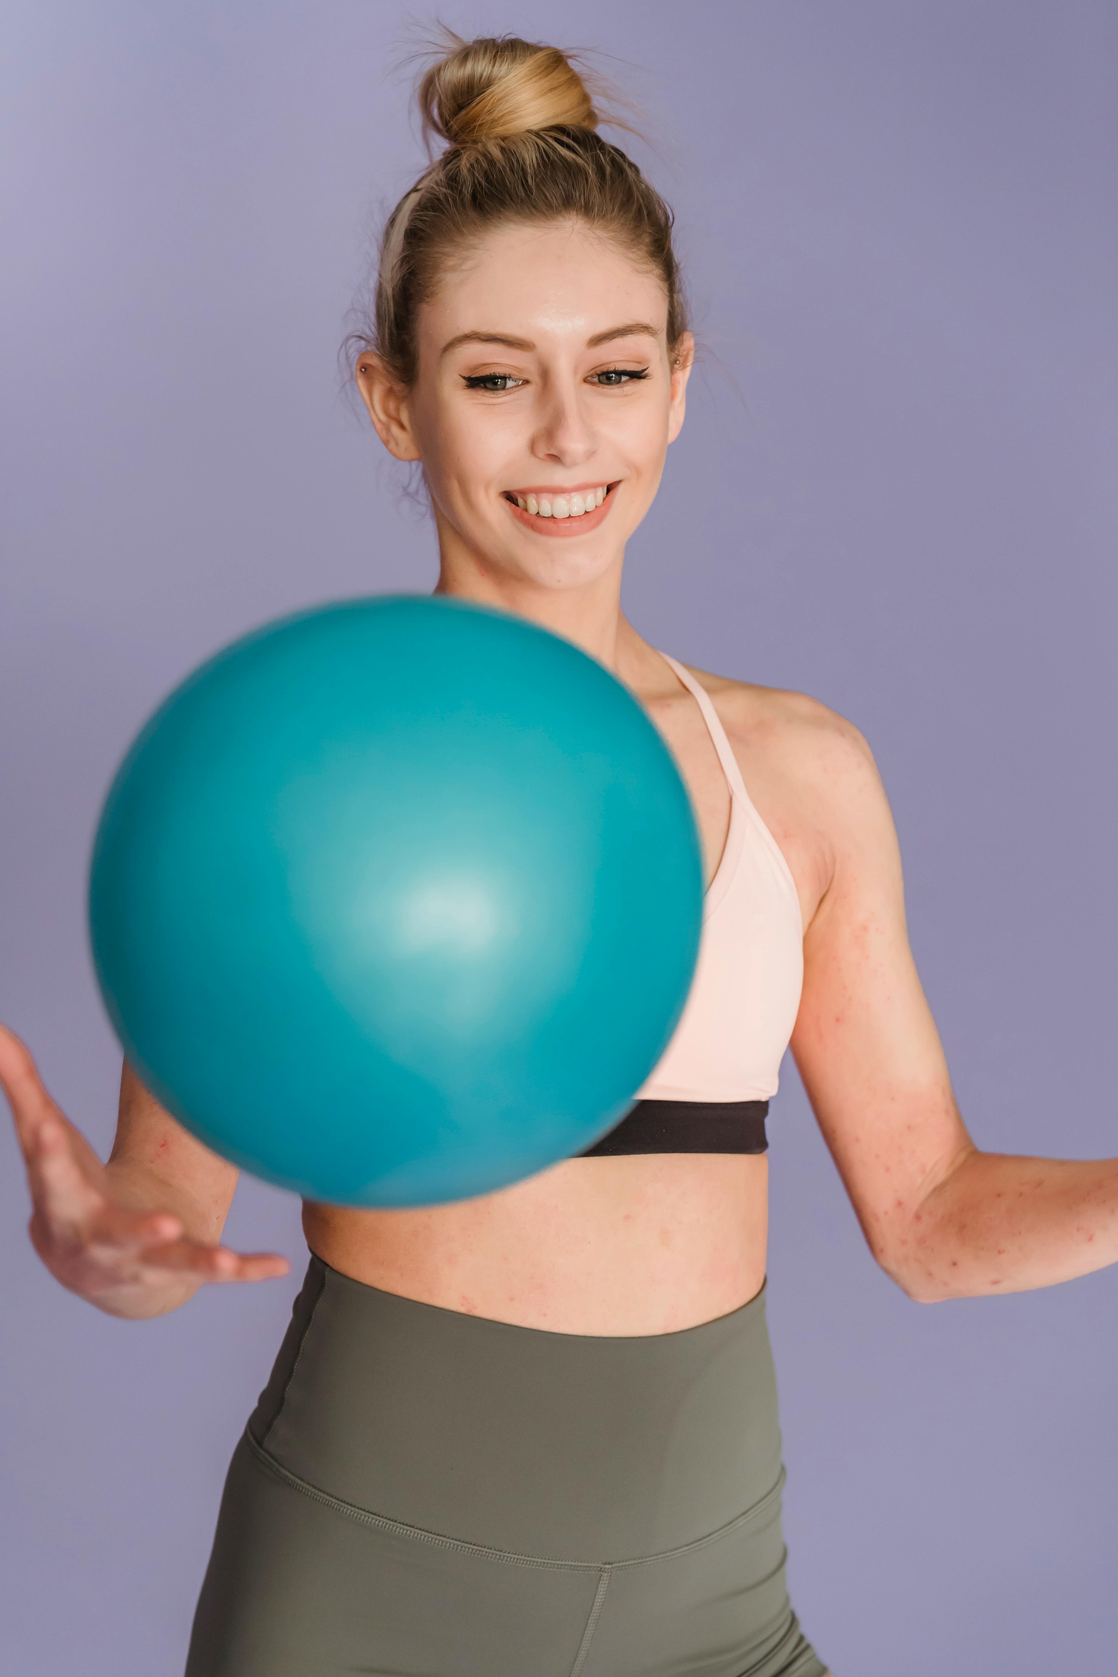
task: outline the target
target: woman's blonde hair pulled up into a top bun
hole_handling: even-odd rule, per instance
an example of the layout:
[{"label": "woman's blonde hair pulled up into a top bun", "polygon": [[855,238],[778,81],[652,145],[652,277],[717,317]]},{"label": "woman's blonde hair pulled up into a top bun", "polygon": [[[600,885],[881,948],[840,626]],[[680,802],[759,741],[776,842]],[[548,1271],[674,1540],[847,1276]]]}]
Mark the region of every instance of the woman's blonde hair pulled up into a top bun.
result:
[{"label": "woman's blonde hair pulled up into a top bun", "polygon": [[404,193],[380,241],[372,319],[347,349],[375,352],[401,384],[416,379],[416,314],[488,230],[580,220],[617,238],[664,282],[667,344],[687,330],[672,211],[637,164],[597,132],[587,80],[556,47],[518,35],[461,40],[421,77],[427,141],[448,143]]}]

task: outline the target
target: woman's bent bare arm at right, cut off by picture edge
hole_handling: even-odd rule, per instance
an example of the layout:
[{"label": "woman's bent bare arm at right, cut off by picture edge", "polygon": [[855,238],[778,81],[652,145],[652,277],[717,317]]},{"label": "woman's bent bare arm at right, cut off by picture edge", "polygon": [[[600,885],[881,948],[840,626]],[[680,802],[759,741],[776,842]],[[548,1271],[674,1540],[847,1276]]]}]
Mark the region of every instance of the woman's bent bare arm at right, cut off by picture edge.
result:
[{"label": "woman's bent bare arm at right, cut off by picture edge", "polygon": [[857,729],[826,716],[810,780],[830,884],[805,937],[791,1048],[873,1256],[925,1303],[1115,1263],[1118,1159],[1026,1159],[970,1140],[908,949],[882,781]]}]

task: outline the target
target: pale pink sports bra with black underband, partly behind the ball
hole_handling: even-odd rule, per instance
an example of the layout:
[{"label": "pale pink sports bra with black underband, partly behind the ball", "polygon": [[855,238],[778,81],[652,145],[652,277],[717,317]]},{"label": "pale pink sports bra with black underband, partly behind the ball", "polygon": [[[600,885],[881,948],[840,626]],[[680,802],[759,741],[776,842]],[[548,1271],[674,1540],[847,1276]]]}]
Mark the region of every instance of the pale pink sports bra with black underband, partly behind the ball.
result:
[{"label": "pale pink sports bra with black underband, partly behind the ball", "polygon": [[726,845],[679,1025],[635,1105],[577,1157],[639,1152],[764,1152],[803,988],[803,916],[791,869],[746,792],[707,691],[660,652],[699,701],[729,785]]}]

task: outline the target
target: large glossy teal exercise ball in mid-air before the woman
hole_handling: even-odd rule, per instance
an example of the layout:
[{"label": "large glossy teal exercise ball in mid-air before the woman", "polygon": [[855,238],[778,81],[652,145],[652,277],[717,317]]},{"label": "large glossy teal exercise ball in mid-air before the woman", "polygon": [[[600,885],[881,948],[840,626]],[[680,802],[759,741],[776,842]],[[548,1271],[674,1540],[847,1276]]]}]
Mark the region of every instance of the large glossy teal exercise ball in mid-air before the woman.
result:
[{"label": "large glossy teal exercise ball in mid-air before the woman", "polygon": [[94,966],[151,1092],[310,1199],[421,1206],[588,1147],[682,1011],[687,792],[568,641],[446,597],[218,652],[121,765]]}]

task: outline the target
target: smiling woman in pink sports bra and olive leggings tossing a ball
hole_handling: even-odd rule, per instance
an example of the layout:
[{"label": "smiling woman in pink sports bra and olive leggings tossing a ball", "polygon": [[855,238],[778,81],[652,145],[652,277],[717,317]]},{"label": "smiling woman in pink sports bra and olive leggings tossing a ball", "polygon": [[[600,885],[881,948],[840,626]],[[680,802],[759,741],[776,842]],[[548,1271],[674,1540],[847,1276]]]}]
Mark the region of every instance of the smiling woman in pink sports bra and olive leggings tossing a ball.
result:
[{"label": "smiling woman in pink sports bra and olive leggings tossing a ball", "polygon": [[[622,1124],[498,1194],[307,1204],[307,1281],[236,1447],[189,1677],[821,1677],[784,1590],[764,1330],[764,1114],[791,1040],[878,1263],[917,1300],[1118,1256],[1118,1167],[981,1154],[903,922],[858,733],[706,676],[620,612],[684,419],[670,215],[572,65],[459,44],[449,144],[389,220],[355,377],[419,461],[439,590],[521,612],[634,691],[704,842],[687,1010]],[[107,1166],[0,1036],[35,1249],[151,1316],[282,1259],[220,1244],[236,1172],[126,1065]]]}]

